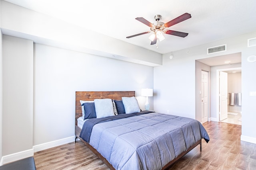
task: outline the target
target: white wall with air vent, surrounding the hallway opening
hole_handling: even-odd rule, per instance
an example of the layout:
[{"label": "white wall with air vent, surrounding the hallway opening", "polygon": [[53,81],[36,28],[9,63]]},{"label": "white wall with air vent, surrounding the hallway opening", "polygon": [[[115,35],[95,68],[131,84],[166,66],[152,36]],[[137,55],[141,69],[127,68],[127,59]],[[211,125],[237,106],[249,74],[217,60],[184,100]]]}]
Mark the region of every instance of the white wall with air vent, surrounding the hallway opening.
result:
[{"label": "white wall with air vent, surrounding the hallway opening", "polygon": [[[163,65],[154,67],[154,110],[174,115],[195,118],[195,60],[220,55],[240,53],[242,54],[242,136],[244,141],[256,143],[256,119],[254,104],[256,97],[249,96],[250,91],[256,91],[256,79],[252,76],[256,72],[256,63],[249,63],[246,59],[250,55],[256,55],[256,46],[247,47],[247,40],[256,37],[256,32],[230,37],[220,41],[174,51],[163,55]],[[206,54],[208,47],[227,44],[227,51]],[[170,60],[169,56],[173,55]],[[211,70],[211,73],[212,70]],[[211,78],[211,81],[213,79]],[[211,82],[213,84],[214,82]],[[216,84],[215,84],[216,85]],[[215,86],[214,85],[214,86]],[[211,117],[216,118],[216,89],[211,86]],[[216,101],[216,100],[215,100]]]}]

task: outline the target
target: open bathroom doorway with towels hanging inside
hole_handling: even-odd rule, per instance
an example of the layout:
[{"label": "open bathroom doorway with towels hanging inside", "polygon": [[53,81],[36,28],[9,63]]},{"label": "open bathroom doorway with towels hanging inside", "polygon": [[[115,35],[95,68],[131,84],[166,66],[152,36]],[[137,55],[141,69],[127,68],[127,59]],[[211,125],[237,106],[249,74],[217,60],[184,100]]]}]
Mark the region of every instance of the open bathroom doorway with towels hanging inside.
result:
[{"label": "open bathroom doorway with towels hanging inside", "polygon": [[[222,80],[221,73],[227,75],[226,81]],[[219,77],[216,77],[219,80],[219,85],[217,84],[219,89],[217,90],[217,92],[219,92],[220,94],[220,98],[217,102],[217,104],[219,104],[219,114],[217,114],[219,115],[219,117],[217,118],[220,122],[242,125],[241,68],[228,68],[217,70],[217,75],[219,75]],[[223,86],[226,86],[227,88],[227,92],[224,92],[226,94],[221,94]],[[236,98],[238,94],[240,95],[239,100]],[[226,99],[227,101],[225,102],[224,99]],[[240,103],[238,103],[238,101]]]}]

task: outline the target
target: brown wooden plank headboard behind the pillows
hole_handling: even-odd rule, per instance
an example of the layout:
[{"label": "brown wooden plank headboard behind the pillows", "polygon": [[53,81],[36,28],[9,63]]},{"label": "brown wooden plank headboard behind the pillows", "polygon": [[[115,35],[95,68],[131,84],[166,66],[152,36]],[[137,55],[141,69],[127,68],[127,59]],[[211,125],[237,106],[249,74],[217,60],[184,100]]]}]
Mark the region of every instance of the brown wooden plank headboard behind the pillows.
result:
[{"label": "brown wooden plank headboard behind the pillows", "polygon": [[82,116],[80,100],[94,99],[122,100],[122,97],[135,97],[135,91],[105,91],[105,92],[76,92],[76,125],[78,117]]}]

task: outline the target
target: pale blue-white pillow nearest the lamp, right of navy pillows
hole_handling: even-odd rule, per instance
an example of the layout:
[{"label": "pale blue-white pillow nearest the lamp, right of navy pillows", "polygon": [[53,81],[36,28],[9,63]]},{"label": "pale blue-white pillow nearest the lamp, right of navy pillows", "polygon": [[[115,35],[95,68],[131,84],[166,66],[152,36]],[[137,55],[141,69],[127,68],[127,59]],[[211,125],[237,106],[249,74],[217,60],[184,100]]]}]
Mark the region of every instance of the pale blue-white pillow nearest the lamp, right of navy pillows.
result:
[{"label": "pale blue-white pillow nearest the lamp, right of navy pillows", "polygon": [[122,97],[122,102],[124,104],[126,114],[140,112],[140,106],[135,97]]}]

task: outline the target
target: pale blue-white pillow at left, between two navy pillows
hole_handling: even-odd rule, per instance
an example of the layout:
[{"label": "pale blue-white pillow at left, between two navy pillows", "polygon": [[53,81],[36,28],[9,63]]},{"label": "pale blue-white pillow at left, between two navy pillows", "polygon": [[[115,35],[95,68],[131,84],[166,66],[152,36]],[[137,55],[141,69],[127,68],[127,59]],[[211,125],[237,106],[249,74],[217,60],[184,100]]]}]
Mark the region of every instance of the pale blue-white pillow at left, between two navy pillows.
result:
[{"label": "pale blue-white pillow at left, between two navy pillows", "polygon": [[95,99],[94,105],[97,118],[115,115],[111,99]]}]

